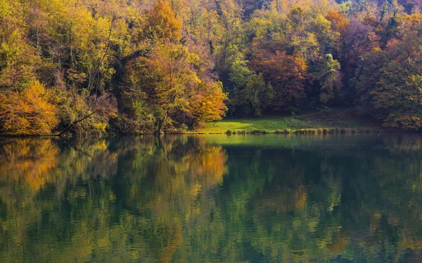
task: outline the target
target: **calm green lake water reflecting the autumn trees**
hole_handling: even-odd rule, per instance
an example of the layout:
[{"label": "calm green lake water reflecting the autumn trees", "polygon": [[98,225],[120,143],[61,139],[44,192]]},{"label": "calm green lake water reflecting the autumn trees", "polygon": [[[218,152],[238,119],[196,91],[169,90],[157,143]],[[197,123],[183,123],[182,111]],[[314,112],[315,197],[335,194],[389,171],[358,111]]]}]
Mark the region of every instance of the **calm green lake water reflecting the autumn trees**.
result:
[{"label": "calm green lake water reflecting the autumn trees", "polygon": [[0,262],[421,262],[422,137],[0,139]]}]

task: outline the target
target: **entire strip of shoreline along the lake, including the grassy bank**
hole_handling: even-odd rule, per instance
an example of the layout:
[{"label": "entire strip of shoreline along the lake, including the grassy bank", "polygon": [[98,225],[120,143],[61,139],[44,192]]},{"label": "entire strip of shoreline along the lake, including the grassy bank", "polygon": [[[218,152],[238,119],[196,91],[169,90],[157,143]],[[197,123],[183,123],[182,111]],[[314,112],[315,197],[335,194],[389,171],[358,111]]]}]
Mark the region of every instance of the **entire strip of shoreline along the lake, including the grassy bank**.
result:
[{"label": "entire strip of shoreline along the lake, including the grassy bank", "polygon": [[[51,134],[11,134],[0,133],[0,137],[114,137],[157,135],[157,128],[143,128],[142,130],[106,129],[105,133],[60,133],[53,130]],[[196,130],[182,128],[167,128],[165,135],[336,135],[336,134],[379,134],[379,133],[421,133],[421,130],[402,130],[399,128],[383,127],[375,119],[356,114],[354,109],[333,109],[325,112],[313,112],[297,116],[261,116],[259,118],[227,117],[219,121],[205,123]],[[160,135],[159,135],[160,136]]]}]

